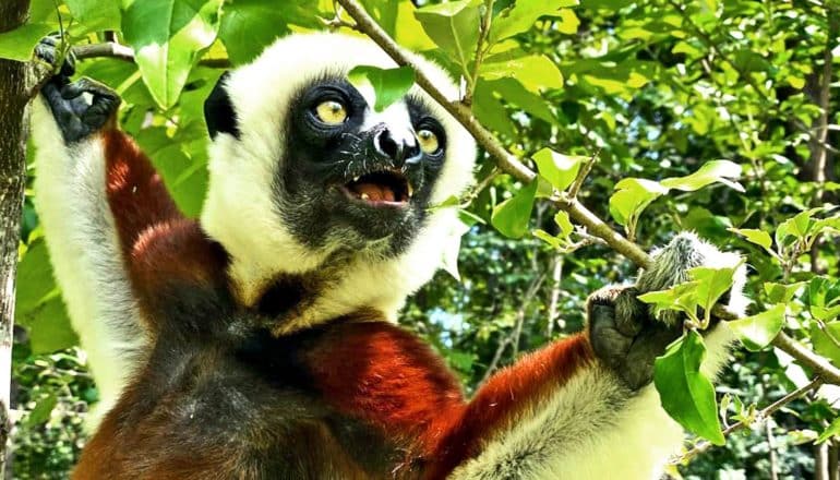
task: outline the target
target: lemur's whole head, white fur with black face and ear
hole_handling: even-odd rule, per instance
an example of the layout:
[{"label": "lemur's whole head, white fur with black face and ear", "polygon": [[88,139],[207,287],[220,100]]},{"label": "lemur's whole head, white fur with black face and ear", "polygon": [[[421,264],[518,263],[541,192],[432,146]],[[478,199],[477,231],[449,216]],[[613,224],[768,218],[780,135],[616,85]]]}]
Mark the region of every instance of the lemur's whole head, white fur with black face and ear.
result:
[{"label": "lemur's whole head, white fur with black face and ear", "polygon": [[[457,99],[442,69],[416,60]],[[277,275],[333,268],[358,284],[359,302],[399,303],[440,264],[455,213],[430,207],[471,182],[475,143],[418,86],[376,111],[373,89],[348,79],[357,65],[396,67],[367,39],[292,35],[226,74],[205,105],[202,224],[230,253],[245,302]],[[376,289],[399,299],[361,298]]]}]

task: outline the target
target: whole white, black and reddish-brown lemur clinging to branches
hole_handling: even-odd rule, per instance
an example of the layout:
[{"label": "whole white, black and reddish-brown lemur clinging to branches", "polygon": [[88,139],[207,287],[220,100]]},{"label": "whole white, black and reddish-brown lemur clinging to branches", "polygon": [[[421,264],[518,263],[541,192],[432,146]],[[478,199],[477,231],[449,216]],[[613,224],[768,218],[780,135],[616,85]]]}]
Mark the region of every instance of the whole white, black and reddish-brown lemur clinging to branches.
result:
[{"label": "whole white, black and reddish-brown lemur clinging to branches", "polygon": [[[53,61],[56,40],[38,53]],[[737,256],[677,237],[636,287],[590,299],[586,332],[465,398],[394,320],[437,268],[455,213],[429,206],[471,182],[475,144],[417,86],[375,111],[347,79],[358,64],[394,67],[308,34],[224,75],[200,220],[116,127],[110,89],[71,83],[72,64],[44,87],[38,212],[104,395],[73,478],[657,478],[682,432],[651,370],[681,326],[635,297]],[[728,338],[708,335],[710,372]]]}]

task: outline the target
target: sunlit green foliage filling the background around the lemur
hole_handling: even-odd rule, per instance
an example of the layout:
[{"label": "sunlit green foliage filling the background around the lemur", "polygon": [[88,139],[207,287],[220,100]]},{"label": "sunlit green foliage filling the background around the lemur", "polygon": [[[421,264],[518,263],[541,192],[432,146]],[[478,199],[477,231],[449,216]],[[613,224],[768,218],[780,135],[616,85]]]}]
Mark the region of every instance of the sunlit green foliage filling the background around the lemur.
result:
[{"label": "sunlit green foliage filling the background around the lemur", "polygon": [[[840,101],[830,88],[840,5],[832,1],[363,1],[398,41],[460,76],[477,119],[539,171],[520,184],[481,158],[478,176],[488,187],[449,204],[467,208],[475,224],[460,250],[463,281],[440,274],[401,322],[472,389],[523,351],[580,329],[586,296],[634,272],[575,229],[550,197],[577,194],[646,247],[695,230],[747,255],[754,315],[734,326],[749,350],[734,353],[711,395],[695,331],[708,324],[729,280],[700,272],[692,286],[658,297],[662,308],[686,311],[693,329],[661,359],[679,361],[670,370],[681,374],[659,369],[657,384],[701,392],[669,410],[689,416],[684,423],[696,433],[719,442],[719,423],[754,429],[729,435],[724,447],[680,471],[814,475],[813,442],[838,448],[837,391],[788,404],[767,428],[756,411],[812,373],[767,346],[780,328],[840,367],[840,216],[831,206],[840,187],[831,147]],[[123,128],[179,206],[195,215],[207,181],[202,101],[221,73],[216,67],[249,61],[277,35],[347,23],[326,0],[283,8],[259,0],[33,0],[29,23],[0,35],[0,57],[26,59],[43,34],[58,29],[71,45],[116,38],[132,47],[135,62],[85,59],[80,75],[120,93]],[[415,72],[359,73],[383,106]],[[79,452],[79,413],[95,391],[84,356],[72,348],[33,200],[25,205],[16,317],[27,334],[15,346],[14,368],[15,408],[29,420],[17,427],[14,468],[15,478],[60,478]]]}]

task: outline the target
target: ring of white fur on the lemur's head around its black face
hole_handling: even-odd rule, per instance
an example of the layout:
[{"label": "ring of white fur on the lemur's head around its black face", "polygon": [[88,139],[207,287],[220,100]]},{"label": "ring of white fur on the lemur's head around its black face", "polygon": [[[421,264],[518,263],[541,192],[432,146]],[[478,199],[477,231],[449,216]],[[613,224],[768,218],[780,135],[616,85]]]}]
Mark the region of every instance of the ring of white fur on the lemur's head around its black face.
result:
[{"label": "ring of white fur on the lemur's head around its black face", "polygon": [[[458,89],[434,63],[417,58],[448,98]],[[242,301],[252,303],[265,284],[281,273],[315,271],[334,247],[311,249],[283,224],[272,188],[285,158],[284,122],[293,95],[324,74],[345,75],[357,65],[394,68],[395,62],[371,40],[339,34],[296,34],[277,40],[253,63],[226,81],[240,139],[219,134],[209,149],[209,189],[202,215],[207,233],[231,254],[231,277]],[[472,181],[476,146],[458,122],[418,86],[408,95],[427,98],[447,135],[446,159],[431,203],[459,195]],[[444,244],[455,227],[454,212],[429,215],[413,243],[397,257],[360,257],[346,268],[331,297],[320,301],[308,323],[348,313],[359,307],[392,315],[405,296],[428,281],[441,264]],[[383,284],[383,281],[385,284]],[[387,288],[382,288],[387,285]],[[383,292],[387,290],[387,292]],[[387,297],[387,298],[385,298]]]}]

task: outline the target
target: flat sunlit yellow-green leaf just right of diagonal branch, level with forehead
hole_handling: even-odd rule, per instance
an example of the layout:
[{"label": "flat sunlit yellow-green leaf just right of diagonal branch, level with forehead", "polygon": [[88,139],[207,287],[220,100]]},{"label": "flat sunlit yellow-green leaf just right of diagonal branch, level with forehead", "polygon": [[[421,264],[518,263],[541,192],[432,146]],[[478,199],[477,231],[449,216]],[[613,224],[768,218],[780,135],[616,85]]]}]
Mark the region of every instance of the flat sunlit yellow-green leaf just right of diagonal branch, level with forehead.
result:
[{"label": "flat sunlit yellow-green leaf just right of diagonal branch, level with forehead", "polygon": [[563,74],[548,57],[532,55],[509,58],[505,61],[482,63],[480,75],[484,80],[514,77],[529,92],[539,95],[545,88],[562,88]]}]

